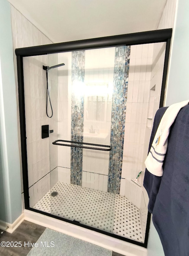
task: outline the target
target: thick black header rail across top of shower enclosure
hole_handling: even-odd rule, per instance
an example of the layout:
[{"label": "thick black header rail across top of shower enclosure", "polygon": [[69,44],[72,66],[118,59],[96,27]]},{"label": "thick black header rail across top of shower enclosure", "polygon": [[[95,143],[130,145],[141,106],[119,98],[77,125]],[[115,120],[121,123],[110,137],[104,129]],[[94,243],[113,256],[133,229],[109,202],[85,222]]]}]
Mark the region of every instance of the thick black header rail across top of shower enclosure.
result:
[{"label": "thick black header rail across top of shower enclosure", "polygon": [[98,49],[103,47],[115,47],[121,45],[151,44],[167,42],[171,39],[172,28],[143,31],[137,33],[105,36],[99,38],[82,39],[77,41],[45,44],[15,49],[16,55],[22,57],[44,55],[59,52],[72,52],[87,49]]}]

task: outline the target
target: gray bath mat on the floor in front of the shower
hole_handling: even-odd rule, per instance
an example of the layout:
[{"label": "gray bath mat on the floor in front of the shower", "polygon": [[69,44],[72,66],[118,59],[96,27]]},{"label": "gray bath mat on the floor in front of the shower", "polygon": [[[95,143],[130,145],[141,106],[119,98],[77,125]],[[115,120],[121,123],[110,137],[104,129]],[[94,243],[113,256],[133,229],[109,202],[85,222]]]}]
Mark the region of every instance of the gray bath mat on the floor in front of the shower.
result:
[{"label": "gray bath mat on the floor in front of the shower", "polygon": [[[46,228],[28,256],[111,256],[112,251]],[[53,247],[54,244],[54,247]]]}]

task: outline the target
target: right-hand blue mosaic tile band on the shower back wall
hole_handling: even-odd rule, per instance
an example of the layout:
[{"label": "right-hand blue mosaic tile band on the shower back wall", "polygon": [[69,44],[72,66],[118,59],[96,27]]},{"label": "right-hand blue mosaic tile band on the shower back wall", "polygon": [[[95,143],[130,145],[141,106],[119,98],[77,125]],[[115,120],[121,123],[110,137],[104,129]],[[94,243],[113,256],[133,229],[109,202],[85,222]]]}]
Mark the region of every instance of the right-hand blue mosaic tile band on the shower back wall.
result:
[{"label": "right-hand blue mosaic tile band on the shower back wall", "polygon": [[107,192],[119,194],[123,161],[123,143],[131,46],[115,48],[111,138]]}]

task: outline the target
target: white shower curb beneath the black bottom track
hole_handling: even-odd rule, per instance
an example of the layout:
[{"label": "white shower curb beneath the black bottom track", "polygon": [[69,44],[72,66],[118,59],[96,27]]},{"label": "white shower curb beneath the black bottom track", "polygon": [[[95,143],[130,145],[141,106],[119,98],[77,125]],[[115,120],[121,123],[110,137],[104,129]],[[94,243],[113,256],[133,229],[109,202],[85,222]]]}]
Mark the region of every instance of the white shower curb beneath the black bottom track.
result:
[{"label": "white shower curb beneath the black bottom track", "polygon": [[[144,247],[130,244],[128,242],[100,234],[96,231],[82,228],[62,220],[57,220],[53,217],[48,217],[37,212],[24,210],[24,219],[126,256],[147,255],[147,249]],[[56,241],[54,242],[56,243]]]}]

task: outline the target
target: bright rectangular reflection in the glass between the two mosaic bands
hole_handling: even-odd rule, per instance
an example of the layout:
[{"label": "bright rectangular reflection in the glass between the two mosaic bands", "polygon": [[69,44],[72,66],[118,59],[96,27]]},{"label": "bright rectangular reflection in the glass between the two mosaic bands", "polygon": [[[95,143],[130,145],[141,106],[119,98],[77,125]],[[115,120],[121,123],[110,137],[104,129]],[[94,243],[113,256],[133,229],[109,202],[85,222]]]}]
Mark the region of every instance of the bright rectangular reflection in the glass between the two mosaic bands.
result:
[{"label": "bright rectangular reflection in the glass between the two mosaic bands", "polygon": [[112,109],[112,89],[112,84],[86,84],[87,120],[110,121],[107,113]]}]

